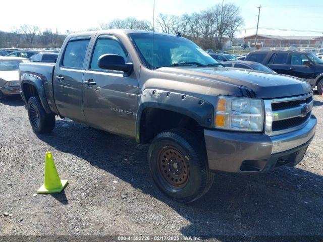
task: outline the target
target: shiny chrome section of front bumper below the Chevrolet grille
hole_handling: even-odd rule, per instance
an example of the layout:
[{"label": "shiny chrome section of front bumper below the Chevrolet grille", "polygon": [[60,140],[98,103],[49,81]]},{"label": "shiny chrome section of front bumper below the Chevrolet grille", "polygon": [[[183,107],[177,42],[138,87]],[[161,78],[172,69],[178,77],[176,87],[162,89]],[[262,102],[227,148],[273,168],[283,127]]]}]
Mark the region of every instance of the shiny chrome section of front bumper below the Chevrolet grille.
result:
[{"label": "shiny chrome section of front bumper below the Chevrolet grille", "polygon": [[300,130],[282,135],[271,136],[273,142],[272,154],[290,150],[309,141],[315,134],[316,117],[311,115],[308,123]]}]

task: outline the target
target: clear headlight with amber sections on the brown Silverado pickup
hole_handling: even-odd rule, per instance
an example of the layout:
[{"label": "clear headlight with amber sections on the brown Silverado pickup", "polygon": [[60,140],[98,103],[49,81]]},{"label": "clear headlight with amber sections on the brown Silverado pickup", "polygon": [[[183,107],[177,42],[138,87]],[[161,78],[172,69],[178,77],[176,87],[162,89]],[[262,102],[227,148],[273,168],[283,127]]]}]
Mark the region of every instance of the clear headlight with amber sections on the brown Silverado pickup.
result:
[{"label": "clear headlight with amber sections on the brown Silverado pickup", "polygon": [[261,99],[219,96],[216,128],[260,132],[263,112]]}]

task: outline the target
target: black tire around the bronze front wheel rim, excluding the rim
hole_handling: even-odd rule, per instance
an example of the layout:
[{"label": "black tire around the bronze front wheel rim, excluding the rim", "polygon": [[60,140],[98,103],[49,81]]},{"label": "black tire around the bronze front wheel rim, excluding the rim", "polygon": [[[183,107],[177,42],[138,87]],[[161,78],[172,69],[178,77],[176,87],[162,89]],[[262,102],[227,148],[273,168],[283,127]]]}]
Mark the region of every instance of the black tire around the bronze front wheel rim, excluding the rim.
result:
[{"label": "black tire around the bronze front wheel rim, excluding the rim", "polygon": [[[149,147],[148,160],[151,175],[156,185],[169,197],[179,202],[190,202],[204,190],[205,167],[204,160],[199,159],[199,152],[183,138],[178,136],[157,136]],[[158,152],[165,146],[174,146],[185,157],[188,163],[189,177],[185,187],[175,189],[167,183],[163,175],[160,174],[158,166]],[[202,157],[201,157],[202,158]]]}]

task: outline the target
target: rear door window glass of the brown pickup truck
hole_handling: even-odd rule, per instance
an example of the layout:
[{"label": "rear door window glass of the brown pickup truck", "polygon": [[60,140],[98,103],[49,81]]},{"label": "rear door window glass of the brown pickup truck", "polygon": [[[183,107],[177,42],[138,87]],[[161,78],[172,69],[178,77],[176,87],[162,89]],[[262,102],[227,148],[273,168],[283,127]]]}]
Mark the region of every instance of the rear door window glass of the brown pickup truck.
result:
[{"label": "rear door window glass of the brown pickup truck", "polygon": [[82,68],[89,42],[89,39],[72,40],[68,42],[64,52],[62,66]]}]

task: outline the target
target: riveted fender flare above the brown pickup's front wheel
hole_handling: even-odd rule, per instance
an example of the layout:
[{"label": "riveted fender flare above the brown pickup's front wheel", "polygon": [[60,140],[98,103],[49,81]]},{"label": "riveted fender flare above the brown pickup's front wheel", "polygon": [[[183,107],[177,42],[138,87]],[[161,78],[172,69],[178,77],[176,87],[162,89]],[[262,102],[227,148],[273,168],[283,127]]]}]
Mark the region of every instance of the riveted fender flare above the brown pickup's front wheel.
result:
[{"label": "riveted fender flare above the brown pickup's front wheel", "polygon": [[136,141],[140,143],[140,123],[146,108],[159,108],[181,113],[194,119],[200,126],[212,128],[212,104],[190,95],[157,89],[145,89],[139,100],[136,114]]}]

